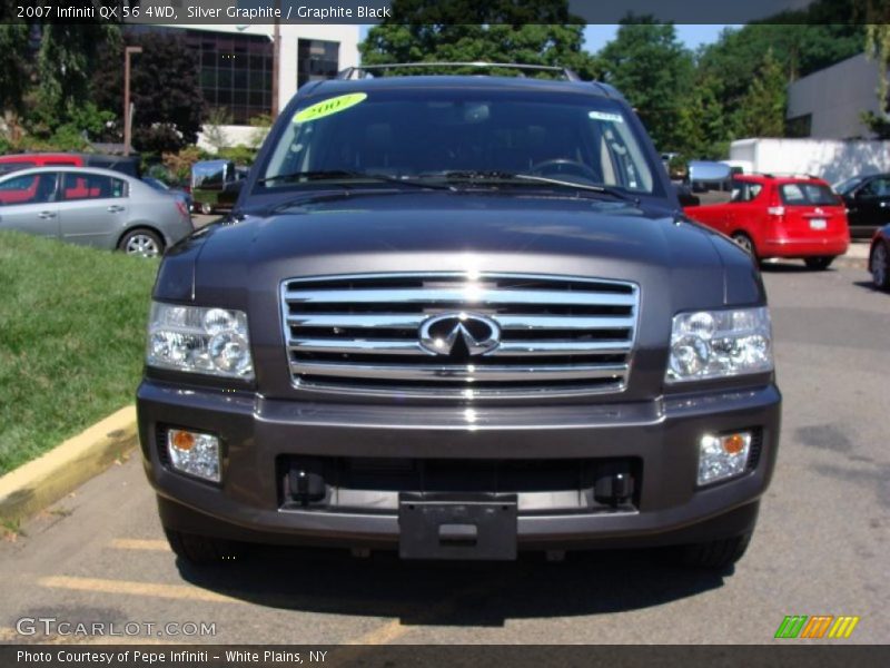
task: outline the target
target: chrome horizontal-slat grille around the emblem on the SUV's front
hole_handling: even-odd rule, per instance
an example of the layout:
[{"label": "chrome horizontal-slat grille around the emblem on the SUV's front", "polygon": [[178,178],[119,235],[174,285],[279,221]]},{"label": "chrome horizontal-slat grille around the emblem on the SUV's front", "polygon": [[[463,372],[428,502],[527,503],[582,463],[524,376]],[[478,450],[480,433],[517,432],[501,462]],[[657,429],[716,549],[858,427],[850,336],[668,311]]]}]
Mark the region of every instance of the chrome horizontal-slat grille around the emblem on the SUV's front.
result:
[{"label": "chrome horizontal-slat grille around the emblem on the SUV's front", "polygon": [[[602,393],[624,389],[640,292],[625,282],[567,276],[365,274],[281,284],[297,386],[423,396]],[[500,327],[481,355],[436,355],[418,331],[467,313]]]}]

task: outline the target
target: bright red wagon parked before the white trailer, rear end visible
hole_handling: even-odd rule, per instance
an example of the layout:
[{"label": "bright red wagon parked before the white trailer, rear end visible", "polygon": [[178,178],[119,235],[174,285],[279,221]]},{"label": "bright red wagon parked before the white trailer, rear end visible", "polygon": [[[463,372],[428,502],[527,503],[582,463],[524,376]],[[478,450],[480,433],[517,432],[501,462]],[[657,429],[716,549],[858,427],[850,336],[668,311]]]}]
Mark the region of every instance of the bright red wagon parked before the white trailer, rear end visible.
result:
[{"label": "bright red wagon parked before the white trailer, rear end visible", "polygon": [[827,269],[850,244],[843,200],[811,176],[739,174],[729,202],[683,210],[758,259],[798,257],[811,269]]}]

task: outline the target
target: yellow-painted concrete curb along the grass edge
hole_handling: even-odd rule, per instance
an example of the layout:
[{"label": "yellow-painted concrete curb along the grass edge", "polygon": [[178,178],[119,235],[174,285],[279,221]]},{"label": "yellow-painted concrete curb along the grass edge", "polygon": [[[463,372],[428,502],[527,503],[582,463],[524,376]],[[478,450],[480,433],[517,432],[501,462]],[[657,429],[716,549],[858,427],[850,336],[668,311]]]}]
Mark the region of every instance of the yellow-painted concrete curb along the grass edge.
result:
[{"label": "yellow-painted concrete curb along the grass edge", "polygon": [[127,406],[0,478],[0,520],[34,514],[108,469],[137,445],[136,406]]}]

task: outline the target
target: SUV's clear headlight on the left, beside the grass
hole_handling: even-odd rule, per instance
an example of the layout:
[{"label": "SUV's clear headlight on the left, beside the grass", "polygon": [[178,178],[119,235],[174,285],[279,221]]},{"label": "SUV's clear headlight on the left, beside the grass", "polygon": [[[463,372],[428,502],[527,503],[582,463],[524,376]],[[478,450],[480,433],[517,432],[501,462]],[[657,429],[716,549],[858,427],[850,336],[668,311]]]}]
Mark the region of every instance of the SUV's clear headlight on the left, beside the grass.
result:
[{"label": "SUV's clear headlight on the left, beside the grass", "polygon": [[152,302],[146,364],[253,380],[247,315],[226,308]]}]

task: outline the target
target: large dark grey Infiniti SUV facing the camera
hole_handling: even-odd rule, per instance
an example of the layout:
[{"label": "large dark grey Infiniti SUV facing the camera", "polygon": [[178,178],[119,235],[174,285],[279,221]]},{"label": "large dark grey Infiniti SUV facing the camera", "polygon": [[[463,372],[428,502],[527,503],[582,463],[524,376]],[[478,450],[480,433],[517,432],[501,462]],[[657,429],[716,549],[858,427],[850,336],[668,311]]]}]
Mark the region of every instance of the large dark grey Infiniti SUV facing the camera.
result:
[{"label": "large dark grey Infiniti SUV facing the camera", "polygon": [[614,89],[387,73],[301,88],[164,259],[138,411],[176,553],[734,562],[779,444],[751,257]]}]

